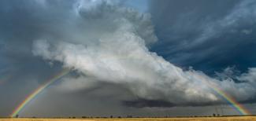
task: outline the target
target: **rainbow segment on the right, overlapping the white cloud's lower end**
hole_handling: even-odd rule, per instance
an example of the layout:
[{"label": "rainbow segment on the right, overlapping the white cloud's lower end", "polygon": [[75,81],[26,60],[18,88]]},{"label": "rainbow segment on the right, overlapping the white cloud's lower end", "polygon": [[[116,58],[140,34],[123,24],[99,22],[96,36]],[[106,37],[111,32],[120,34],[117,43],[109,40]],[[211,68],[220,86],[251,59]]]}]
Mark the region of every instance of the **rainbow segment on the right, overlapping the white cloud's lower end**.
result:
[{"label": "rainbow segment on the right, overlapping the white cloud's lower end", "polygon": [[[200,76],[198,76],[200,79]],[[206,86],[209,86],[211,90],[213,90],[213,92],[215,94],[218,94],[221,98],[224,99],[224,101],[227,101],[232,108],[235,108],[236,111],[239,112],[240,115],[243,116],[248,116],[251,115],[251,113],[247,110],[247,108],[243,107],[243,105],[239,104],[238,101],[236,101],[236,99],[232,96],[230,96],[229,94],[225,93],[223,90],[221,90],[221,88],[218,88],[217,83],[213,83],[213,81],[206,81],[205,79],[200,79],[200,81],[202,83],[205,83]]]}]

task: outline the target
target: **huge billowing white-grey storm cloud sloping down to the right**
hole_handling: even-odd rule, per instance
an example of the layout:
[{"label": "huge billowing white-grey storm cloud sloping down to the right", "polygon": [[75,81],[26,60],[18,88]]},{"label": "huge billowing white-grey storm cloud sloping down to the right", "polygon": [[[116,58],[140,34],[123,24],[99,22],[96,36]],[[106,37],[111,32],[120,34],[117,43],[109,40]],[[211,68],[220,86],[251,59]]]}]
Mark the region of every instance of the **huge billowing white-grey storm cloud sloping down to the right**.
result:
[{"label": "huge billowing white-grey storm cloud sloping down to the right", "polygon": [[[137,97],[175,105],[221,102],[211,84],[238,101],[254,97],[255,68],[237,78],[243,83],[235,83],[231,78],[213,79],[193,69],[184,71],[150,52],[148,48],[157,37],[149,14],[103,0],[76,1],[67,14],[72,19],[58,21],[59,25],[68,23],[61,27],[63,32],[58,31],[62,37],[38,38],[32,53],[76,69],[83,73],[84,81],[121,83]],[[69,83],[72,90],[87,88],[72,85],[72,79]]]}]

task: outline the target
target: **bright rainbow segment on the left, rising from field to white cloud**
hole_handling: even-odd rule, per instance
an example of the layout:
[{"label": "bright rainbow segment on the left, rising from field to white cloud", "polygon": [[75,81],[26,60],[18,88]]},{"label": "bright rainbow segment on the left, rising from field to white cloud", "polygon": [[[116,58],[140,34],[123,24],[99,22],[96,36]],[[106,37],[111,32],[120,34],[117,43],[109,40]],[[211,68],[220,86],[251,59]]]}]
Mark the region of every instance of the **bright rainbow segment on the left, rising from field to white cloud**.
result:
[{"label": "bright rainbow segment on the left, rising from field to white cloud", "polygon": [[46,81],[42,86],[39,86],[36,90],[32,92],[32,94],[29,94],[28,97],[24,99],[20,103],[20,105],[17,106],[10,115],[10,117],[15,117],[19,114],[19,112],[26,106],[30,101],[32,101],[33,98],[35,98],[38,94],[40,94],[44,89],[46,89],[50,84],[56,82],[58,79],[61,79],[62,76],[67,75],[69,73],[69,69],[63,69],[61,72],[59,72],[57,75],[52,76],[50,79]]}]

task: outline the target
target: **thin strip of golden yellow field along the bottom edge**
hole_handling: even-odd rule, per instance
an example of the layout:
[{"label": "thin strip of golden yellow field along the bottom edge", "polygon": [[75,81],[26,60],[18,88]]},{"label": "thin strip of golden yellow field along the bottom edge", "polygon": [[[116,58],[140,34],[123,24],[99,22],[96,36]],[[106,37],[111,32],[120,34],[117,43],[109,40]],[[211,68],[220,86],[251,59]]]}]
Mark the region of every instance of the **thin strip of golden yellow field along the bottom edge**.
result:
[{"label": "thin strip of golden yellow field along the bottom edge", "polygon": [[256,116],[203,118],[132,118],[132,119],[0,119],[0,121],[256,121]]}]

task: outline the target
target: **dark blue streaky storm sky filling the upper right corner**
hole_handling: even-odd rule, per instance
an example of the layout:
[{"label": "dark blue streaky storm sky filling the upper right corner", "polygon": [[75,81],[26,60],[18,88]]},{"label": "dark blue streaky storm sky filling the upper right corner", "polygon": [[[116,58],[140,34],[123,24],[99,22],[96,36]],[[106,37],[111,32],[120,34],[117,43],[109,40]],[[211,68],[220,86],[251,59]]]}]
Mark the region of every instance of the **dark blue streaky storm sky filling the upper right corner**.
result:
[{"label": "dark blue streaky storm sky filling the upper right corner", "polygon": [[[255,66],[254,1],[150,1],[159,41],[153,50],[180,66],[213,74]],[[161,7],[159,7],[161,6]]]}]

